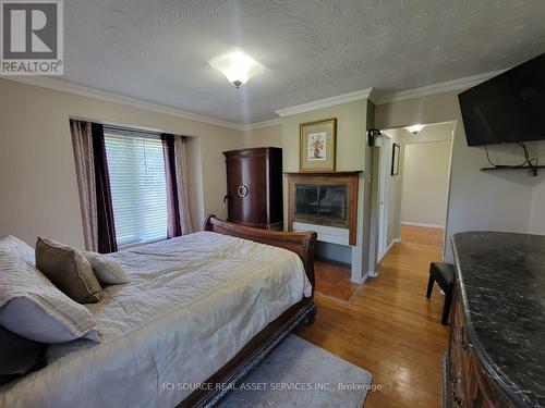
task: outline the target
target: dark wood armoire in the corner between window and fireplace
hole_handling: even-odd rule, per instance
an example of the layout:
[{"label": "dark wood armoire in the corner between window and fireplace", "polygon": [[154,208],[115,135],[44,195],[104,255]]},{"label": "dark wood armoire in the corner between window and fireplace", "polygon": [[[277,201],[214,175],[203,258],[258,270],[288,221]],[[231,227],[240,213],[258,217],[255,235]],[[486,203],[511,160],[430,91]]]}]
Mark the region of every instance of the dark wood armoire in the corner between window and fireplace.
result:
[{"label": "dark wood armoire in the corner between window and fireplace", "polygon": [[282,230],[282,149],[258,147],[225,151],[228,221]]}]

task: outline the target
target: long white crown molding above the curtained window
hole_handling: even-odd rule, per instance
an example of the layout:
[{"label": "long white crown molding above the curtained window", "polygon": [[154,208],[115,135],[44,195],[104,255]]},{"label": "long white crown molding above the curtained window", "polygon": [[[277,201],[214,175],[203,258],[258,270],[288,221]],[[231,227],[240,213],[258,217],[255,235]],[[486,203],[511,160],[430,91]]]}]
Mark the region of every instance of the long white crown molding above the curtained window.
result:
[{"label": "long white crown molding above the curtained window", "polygon": [[244,131],[247,125],[223,121],[210,116],[205,116],[198,113],[186,112],[181,109],[143,101],[135,98],[124,97],[106,90],[99,90],[82,85],[72,84],[69,82],[53,79],[47,76],[2,76],[2,79],[13,81],[26,85],[34,85],[41,88],[58,90],[65,94],[77,95],[93,99],[102,100],[105,102],[123,104],[131,108],[145,109],[157,113],[169,114],[177,118],[183,118],[195,122],[207,123],[215,126],[227,127],[235,131]]}]

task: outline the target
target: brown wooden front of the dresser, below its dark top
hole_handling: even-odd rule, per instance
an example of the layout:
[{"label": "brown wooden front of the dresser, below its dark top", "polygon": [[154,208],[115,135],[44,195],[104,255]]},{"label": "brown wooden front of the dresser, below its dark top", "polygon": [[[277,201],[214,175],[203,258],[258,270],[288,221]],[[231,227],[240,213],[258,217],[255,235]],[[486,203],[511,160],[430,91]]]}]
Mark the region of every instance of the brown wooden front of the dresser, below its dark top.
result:
[{"label": "brown wooden front of the dresser, below its dark top", "polygon": [[455,287],[450,341],[444,388],[445,406],[452,408],[508,408],[514,405],[500,392],[472,351],[464,333],[460,290]]}]

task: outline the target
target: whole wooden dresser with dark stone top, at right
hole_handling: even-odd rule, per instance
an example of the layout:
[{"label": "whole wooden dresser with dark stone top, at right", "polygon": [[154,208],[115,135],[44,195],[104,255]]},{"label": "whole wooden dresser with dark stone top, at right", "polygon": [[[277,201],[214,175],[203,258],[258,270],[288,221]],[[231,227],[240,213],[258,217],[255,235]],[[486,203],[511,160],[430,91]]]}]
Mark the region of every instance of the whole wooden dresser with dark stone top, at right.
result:
[{"label": "whole wooden dresser with dark stone top, at right", "polygon": [[544,248],[542,235],[452,235],[447,406],[545,407]]}]

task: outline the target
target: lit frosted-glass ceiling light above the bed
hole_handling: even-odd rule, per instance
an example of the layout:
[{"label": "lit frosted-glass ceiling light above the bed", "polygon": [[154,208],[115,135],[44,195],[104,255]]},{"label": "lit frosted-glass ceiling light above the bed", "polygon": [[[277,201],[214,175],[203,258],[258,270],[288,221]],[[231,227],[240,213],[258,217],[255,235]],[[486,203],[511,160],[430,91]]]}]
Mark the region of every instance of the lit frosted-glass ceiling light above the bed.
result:
[{"label": "lit frosted-glass ceiling light above the bed", "polygon": [[221,72],[237,88],[265,70],[261,63],[239,50],[215,58],[210,66]]}]

